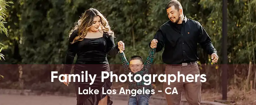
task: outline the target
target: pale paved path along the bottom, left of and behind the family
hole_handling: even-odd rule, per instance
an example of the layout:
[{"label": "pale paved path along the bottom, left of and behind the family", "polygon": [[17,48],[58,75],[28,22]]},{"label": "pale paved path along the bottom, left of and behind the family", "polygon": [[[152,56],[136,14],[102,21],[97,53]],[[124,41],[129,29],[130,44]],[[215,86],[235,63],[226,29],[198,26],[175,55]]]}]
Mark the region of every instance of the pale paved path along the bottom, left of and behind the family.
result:
[{"label": "pale paved path along the bottom, left of and behind the family", "polygon": [[[128,101],[113,100],[113,105],[127,105]],[[0,95],[0,105],[75,105],[75,97]],[[152,104],[149,104],[152,105]]]}]

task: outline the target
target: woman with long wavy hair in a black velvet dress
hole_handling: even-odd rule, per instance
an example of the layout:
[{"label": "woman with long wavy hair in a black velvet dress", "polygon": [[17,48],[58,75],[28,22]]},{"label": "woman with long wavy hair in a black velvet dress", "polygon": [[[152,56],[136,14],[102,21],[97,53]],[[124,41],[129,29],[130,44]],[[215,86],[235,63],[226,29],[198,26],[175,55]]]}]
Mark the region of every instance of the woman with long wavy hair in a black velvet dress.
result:
[{"label": "woman with long wavy hair in a black velvet dress", "polygon": [[[80,82],[78,82],[77,76],[73,76],[76,77],[76,82],[74,82],[76,105],[111,105],[113,101],[109,95],[102,94],[102,88],[106,93],[106,90],[111,89],[112,82],[110,82],[110,78],[101,82],[101,71],[110,73],[107,54],[110,56],[117,55],[119,48],[124,50],[124,43],[122,41],[117,44],[114,43],[114,32],[108,25],[107,19],[93,8],[83,13],[78,24],[75,25],[69,35],[64,74],[70,74],[71,64],[77,54],[74,74],[80,75]],[[88,81],[86,81],[86,71],[92,77],[96,74],[92,85],[90,85],[92,80],[89,76]],[[81,74],[84,74],[84,82],[81,82]],[[64,82],[64,84],[68,86],[68,82]],[[93,90],[97,89],[98,94],[95,94],[94,91],[93,94],[79,94],[83,93],[84,89],[89,90],[89,87]]]}]

